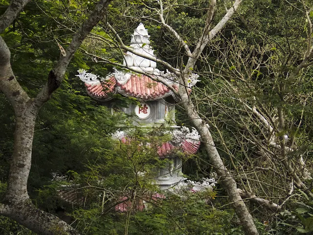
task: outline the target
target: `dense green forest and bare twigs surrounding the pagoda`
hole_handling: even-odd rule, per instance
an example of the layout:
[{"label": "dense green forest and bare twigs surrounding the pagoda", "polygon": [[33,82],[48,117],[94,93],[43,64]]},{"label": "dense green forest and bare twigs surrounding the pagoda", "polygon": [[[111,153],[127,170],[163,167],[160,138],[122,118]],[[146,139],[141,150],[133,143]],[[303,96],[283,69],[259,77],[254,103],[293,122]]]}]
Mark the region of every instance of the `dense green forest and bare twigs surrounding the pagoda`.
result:
[{"label": "dense green forest and bare twigs surrounding the pagoda", "polygon": [[[0,15],[9,3],[0,0]],[[0,34],[10,48],[15,76],[30,97],[39,93],[46,74],[58,61],[58,44],[67,48],[94,4],[86,0],[31,1]],[[195,48],[210,1],[169,0],[163,4],[166,24]],[[230,1],[218,1],[212,24],[217,24],[231,5]],[[145,211],[135,206],[128,212],[114,210],[125,195],[135,193],[144,198],[148,191],[160,192],[139,172],[144,170],[149,176],[156,166],[171,161],[156,155],[157,146],[167,138],[158,133],[166,127],[153,129],[147,139],[146,133],[132,126],[131,117],[112,115],[92,100],[75,75],[78,69],[85,69],[105,77],[113,71],[112,64],[122,63],[124,51],[107,22],[126,45],[134,29],[143,23],[157,57],[184,69],[185,52],[159,24],[158,6],[153,0],[110,2],[105,19],[76,51],[61,87],[36,118],[28,179],[31,201],[88,235],[244,234],[220,184],[213,191],[166,195],[151,201]],[[204,48],[193,69],[201,82],[191,99],[210,126],[224,164],[244,192],[242,197],[260,234],[313,232],[312,56],[303,63],[307,48],[313,48],[312,24],[308,24],[313,20],[312,7],[309,1],[244,0]],[[105,60],[101,62],[101,58]],[[166,69],[161,64],[158,68]],[[136,100],[116,96],[114,102],[123,107]],[[14,110],[0,93],[0,198],[7,188],[14,121]],[[176,122],[192,126],[180,104]],[[134,129],[132,144],[125,146],[112,139],[121,125]],[[152,147],[144,147],[148,142]],[[140,149],[139,143],[143,146]],[[214,169],[203,146],[196,155],[181,157],[188,179],[212,177]],[[75,198],[63,200],[60,193],[73,185]],[[34,233],[0,216],[0,234]]]}]

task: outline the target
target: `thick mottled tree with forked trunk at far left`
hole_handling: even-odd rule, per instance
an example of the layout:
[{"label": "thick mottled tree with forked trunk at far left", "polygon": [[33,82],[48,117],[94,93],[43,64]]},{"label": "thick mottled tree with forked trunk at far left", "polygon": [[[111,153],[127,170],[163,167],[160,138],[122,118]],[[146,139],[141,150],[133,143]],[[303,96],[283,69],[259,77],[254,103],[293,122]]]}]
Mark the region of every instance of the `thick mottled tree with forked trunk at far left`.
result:
[{"label": "thick mottled tree with forked trunk at far left", "polygon": [[[30,0],[13,0],[0,16],[0,33],[12,24]],[[17,81],[10,64],[10,50],[0,37],[0,91],[11,103],[15,112],[14,151],[10,166],[8,187],[0,203],[0,214],[41,234],[78,234],[58,217],[36,208],[29,199],[27,180],[31,166],[35,120],[39,109],[61,85],[67,66],[75,51],[93,27],[103,18],[108,1],[100,0],[92,13],[74,32],[71,41],[61,50],[60,59],[51,68],[48,80],[40,92],[31,98]]]}]

